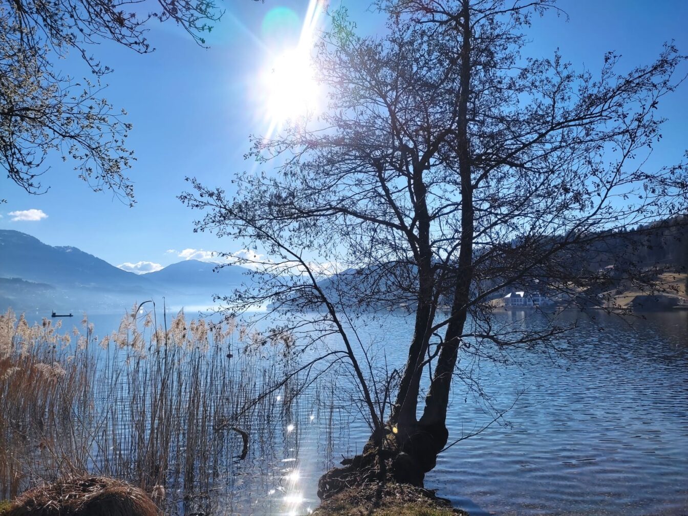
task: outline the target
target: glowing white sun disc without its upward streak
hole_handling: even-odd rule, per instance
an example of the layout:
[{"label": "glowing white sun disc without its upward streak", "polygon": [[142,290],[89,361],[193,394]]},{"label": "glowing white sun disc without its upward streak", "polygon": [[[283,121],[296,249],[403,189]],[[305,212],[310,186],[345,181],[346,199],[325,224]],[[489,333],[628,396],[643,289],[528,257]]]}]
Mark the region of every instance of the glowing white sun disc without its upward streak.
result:
[{"label": "glowing white sun disc without its upward streak", "polygon": [[283,52],[263,74],[265,109],[272,124],[305,115],[315,107],[318,85],[310,52],[295,48]]}]

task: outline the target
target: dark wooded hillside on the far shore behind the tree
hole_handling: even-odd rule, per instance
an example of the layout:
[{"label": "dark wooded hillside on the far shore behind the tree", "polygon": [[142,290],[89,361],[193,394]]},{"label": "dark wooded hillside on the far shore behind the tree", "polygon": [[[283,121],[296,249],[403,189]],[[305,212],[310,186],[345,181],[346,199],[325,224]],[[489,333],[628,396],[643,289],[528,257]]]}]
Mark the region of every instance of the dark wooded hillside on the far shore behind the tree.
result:
[{"label": "dark wooded hillside on the far shore behind the tree", "polygon": [[[542,237],[536,240],[542,249],[557,245],[561,236]],[[476,248],[474,257],[480,271],[480,287],[490,290],[500,285],[487,301],[501,301],[504,295],[517,290],[539,292],[561,305],[571,305],[578,292],[577,303],[589,305],[590,299],[605,306],[639,305],[645,310],[652,303],[664,299],[673,306],[688,302],[688,217],[676,215],[646,226],[614,232],[597,232],[581,237],[583,243],[571,256],[554,255],[552,262],[558,266],[547,266],[539,272],[533,268],[530,275],[510,282],[513,275],[519,275],[518,264],[510,264],[510,257],[528,250],[528,243],[511,241],[501,253],[497,253],[496,264],[482,261],[482,255],[491,252],[489,246]],[[530,244],[532,245],[532,243]],[[525,250],[524,250],[525,248]],[[453,297],[455,264],[441,264],[436,261],[436,274],[446,275],[445,292],[439,304],[447,306]],[[481,268],[484,267],[484,270]],[[504,271],[504,274],[500,272]],[[547,275],[549,273],[549,275]],[[555,276],[559,273],[561,277]],[[586,290],[569,290],[567,281],[574,277],[589,278]],[[548,283],[552,288],[548,288]],[[568,285],[568,286],[567,286]],[[563,289],[559,288],[565,286]],[[362,310],[380,308],[415,309],[418,290],[418,272],[406,261],[380,262],[360,269],[350,269],[319,281],[319,287],[330,301],[343,307],[357,307]],[[563,291],[563,292],[561,292]],[[647,294],[653,294],[649,296]],[[636,299],[637,298],[637,299]],[[647,299],[650,301],[647,301]],[[299,290],[298,294],[287,294],[273,303],[275,308],[310,310],[321,308],[321,300],[310,290]],[[638,307],[636,307],[638,308]]]}]

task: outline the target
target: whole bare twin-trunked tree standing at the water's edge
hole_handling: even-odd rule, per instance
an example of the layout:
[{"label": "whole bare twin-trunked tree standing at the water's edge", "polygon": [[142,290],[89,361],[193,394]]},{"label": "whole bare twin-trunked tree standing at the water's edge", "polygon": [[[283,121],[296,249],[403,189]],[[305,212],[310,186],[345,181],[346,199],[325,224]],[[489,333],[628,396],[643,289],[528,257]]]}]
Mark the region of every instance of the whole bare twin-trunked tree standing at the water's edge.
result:
[{"label": "whole bare twin-trunked tree standing at the water's edge", "polygon": [[[322,342],[315,329],[341,337],[372,433],[321,479],[323,496],[380,470],[422,485],[448,442],[452,380],[471,381],[462,359],[500,360],[570,329],[555,316],[541,330],[499,324],[495,299],[537,288],[599,305],[599,242],[687,211],[684,166],[645,164],[684,58],[668,44],[625,74],[612,53],[596,73],[524,58],[523,31],[548,4],[391,1],[376,38],[334,13],[316,56],[327,112],[256,138],[250,155],[276,170],[238,174],[233,197],[196,180],[181,197],[206,211],[197,230],[266,253],[261,283],[225,298],[233,310],[273,303],[287,327],[308,328],[304,349]],[[356,315],[400,304],[415,317],[407,362],[381,378]]]}]

